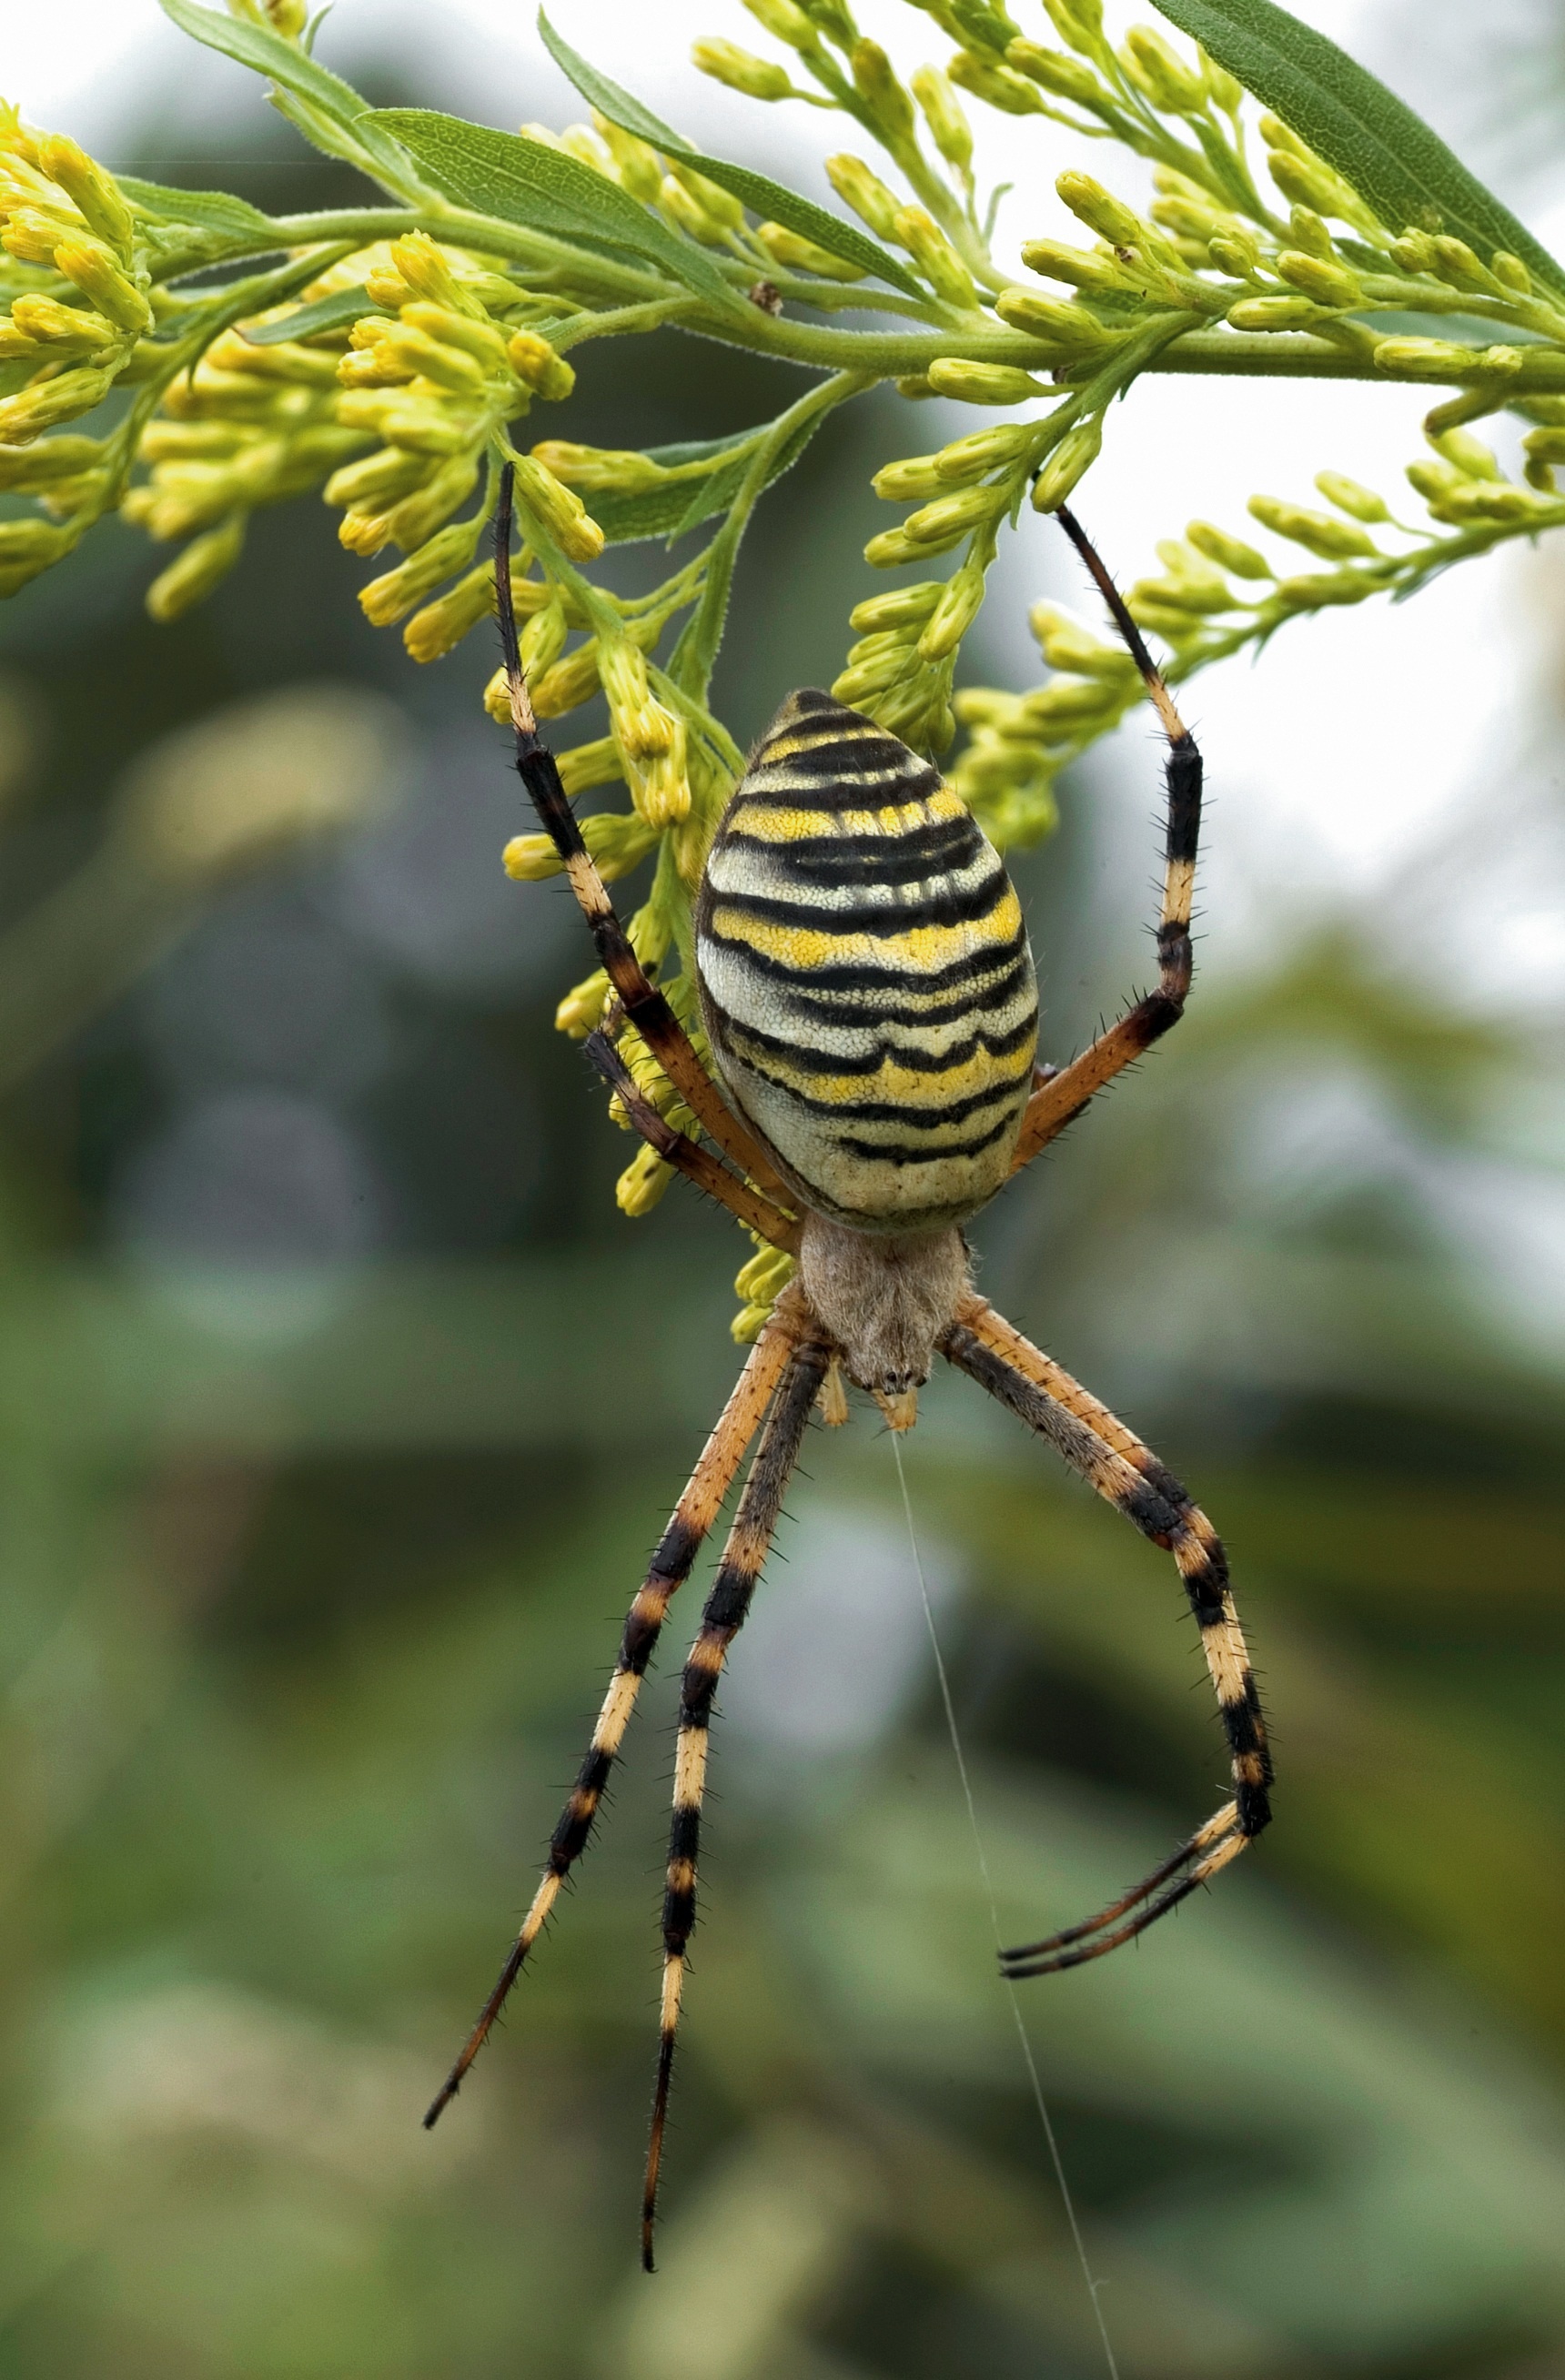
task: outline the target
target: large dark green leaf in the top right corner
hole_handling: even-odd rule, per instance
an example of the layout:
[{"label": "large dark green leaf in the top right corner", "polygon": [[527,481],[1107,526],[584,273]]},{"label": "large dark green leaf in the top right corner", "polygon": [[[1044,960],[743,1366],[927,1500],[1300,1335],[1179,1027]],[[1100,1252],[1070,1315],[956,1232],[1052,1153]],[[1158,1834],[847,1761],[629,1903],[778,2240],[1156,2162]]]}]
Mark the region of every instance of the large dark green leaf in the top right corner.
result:
[{"label": "large dark green leaf in the top right corner", "polygon": [[1272,0],[1158,0],[1158,7],[1336,167],[1389,231],[1446,231],[1484,262],[1508,248],[1565,293],[1565,269],[1494,190],[1324,33]]}]

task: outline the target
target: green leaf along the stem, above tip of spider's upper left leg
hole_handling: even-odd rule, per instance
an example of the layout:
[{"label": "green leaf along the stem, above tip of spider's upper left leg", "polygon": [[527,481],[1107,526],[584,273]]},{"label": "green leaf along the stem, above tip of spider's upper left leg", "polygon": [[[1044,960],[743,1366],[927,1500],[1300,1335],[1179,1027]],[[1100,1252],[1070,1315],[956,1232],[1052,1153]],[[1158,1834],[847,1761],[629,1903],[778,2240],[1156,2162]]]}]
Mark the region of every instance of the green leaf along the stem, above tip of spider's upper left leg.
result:
[{"label": "green leaf along the stem, above tip of spider's upper left leg", "polygon": [[743,305],[705,250],[681,240],[617,181],[593,174],[591,164],[565,150],[491,131],[488,124],[464,124],[462,117],[443,117],[431,107],[381,107],[367,121],[393,133],[460,207],[555,238],[629,248],[724,312]]}]

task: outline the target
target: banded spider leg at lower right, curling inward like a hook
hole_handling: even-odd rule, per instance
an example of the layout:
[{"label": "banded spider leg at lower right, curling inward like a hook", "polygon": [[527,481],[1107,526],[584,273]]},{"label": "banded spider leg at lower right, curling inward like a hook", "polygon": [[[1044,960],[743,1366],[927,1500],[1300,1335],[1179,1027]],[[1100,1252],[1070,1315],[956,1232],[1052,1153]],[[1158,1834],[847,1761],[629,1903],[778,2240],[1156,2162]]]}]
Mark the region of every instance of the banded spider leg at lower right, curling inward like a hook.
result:
[{"label": "banded spider leg at lower right, curling inward like a hook", "polygon": [[[1012,1980],[1022,1980],[1081,1966],[1129,1942],[1236,1859],[1272,1816],[1267,1795],[1272,1759],[1255,1673],[1229,1592],[1222,1540],[1179,1480],[1070,1373],[986,1309],[984,1299],[965,1302],[962,1316],[941,1338],[941,1352],[1046,1438],[1143,1537],[1172,1552],[1201,1628],[1234,1771],[1234,1799],[1224,1802],[1153,1875],[1081,1925],[1003,1952],[1005,1971]],[[1115,1928],[1129,1909],[1139,1909],[1139,1916]]]}]

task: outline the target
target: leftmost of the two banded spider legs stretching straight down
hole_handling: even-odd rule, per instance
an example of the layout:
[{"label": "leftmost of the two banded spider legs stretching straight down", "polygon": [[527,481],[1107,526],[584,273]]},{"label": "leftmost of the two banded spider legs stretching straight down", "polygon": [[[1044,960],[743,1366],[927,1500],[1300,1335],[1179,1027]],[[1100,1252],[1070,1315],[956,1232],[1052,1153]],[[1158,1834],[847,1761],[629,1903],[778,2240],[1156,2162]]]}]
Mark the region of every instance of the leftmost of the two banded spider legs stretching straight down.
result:
[{"label": "leftmost of the two banded spider legs stretching straight down", "polygon": [[565,1878],[586,1849],[593,1818],[598,1816],[610,1768],[615,1766],[615,1756],[624,1742],[624,1730],[631,1721],[631,1711],[636,1709],[636,1695],[648,1661],[653,1659],[669,1599],[691,1576],[691,1564],[696,1561],[707,1530],[717,1521],[722,1502],[738,1476],[741,1461],[746,1459],[746,1449],[760,1428],[760,1418],[777,1392],[777,1383],[788,1368],[788,1357],[793,1354],[798,1338],[800,1307],[803,1299],[798,1290],[784,1290],[772,1319],[750,1349],[746,1368],[734,1383],[734,1392],[722,1409],[717,1428],[700,1449],[700,1461],[691,1473],[691,1483],[679,1497],[674,1516],[662,1533],[662,1542],[653,1554],[650,1568],[636,1590],[636,1602],[624,1621],[615,1676],[610,1678],[607,1695],[603,1697],[603,1709],[598,1711],[598,1726],[593,1728],[593,1740],[586,1749],[586,1759],[581,1761],[581,1773],[576,1775],[569,1802],[555,1825],[548,1866],[538,1890],[534,1892],[531,1909],[526,1911],[510,1956],[500,1968],[500,1980],[484,2002],[479,2023],[467,2035],[457,2063],[450,2068],[445,2082],[431,2102],[429,2113],[424,2116],[426,2128],[438,2121],[445,2104],[455,2099],[462,2087],[467,2068],[488,2040],[491,2025],[505,2006],[526,1954],[543,1933],[550,1909],[560,1899]]}]

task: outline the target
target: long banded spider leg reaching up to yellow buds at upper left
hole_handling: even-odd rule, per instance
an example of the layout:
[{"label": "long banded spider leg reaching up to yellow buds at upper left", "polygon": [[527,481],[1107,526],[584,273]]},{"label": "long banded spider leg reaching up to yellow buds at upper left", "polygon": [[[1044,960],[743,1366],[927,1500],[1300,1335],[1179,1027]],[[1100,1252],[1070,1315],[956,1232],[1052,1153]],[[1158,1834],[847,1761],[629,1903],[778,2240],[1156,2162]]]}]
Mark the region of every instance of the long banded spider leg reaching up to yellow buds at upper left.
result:
[{"label": "long banded spider leg reaching up to yellow buds at upper left", "polygon": [[572,809],[565,785],[560,783],[555,754],[538,735],[538,721],[534,719],[526,681],[522,678],[522,647],[517,645],[517,614],[510,593],[512,483],[515,466],[505,464],[500,474],[500,502],[495,507],[495,614],[500,621],[505,681],[510,688],[510,719],[517,731],[517,776],[526,785],[531,804],[538,812],[538,826],[565,862],[565,876],[576,895],[576,907],[588,923],[603,971],[619,995],[626,1019],[636,1026],[669,1083],[674,1083],[679,1097],[693,1111],[703,1133],[707,1133],[707,1138],[734,1159],[741,1173],[748,1173],[755,1183],[760,1183],[762,1190],[781,1192],[784,1185],[767,1161],[765,1150],[743,1128],[743,1123],[729,1114],[717,1085],[696,1057],[696,1050],[691,1047],[691,1040],[669,1002],[657,985],[648,981],[648,973],[631,947],[631,938],[619,923],[607,885],[603,883],[603,876],[598,873],[581,838],[576,812]]}]

